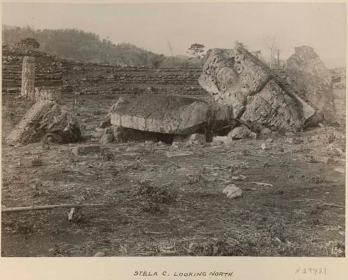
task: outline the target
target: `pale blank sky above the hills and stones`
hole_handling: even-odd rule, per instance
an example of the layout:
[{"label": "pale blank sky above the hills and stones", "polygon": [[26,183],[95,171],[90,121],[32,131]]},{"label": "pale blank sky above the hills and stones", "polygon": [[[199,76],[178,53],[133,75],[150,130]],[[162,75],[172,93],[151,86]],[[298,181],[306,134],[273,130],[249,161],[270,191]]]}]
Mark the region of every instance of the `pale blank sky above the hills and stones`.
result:
[{"label": "pale blank sky above the hills and stones", "polygon": [[294,47],[315,48],[329,68],[345,65],[345,4],[329,3],[3,3],[3,24],[35,29],[76,28],[152,52],[187,54],[195,42],[230,48],[244,42],[266,55],[276,36],[282,59]]}]

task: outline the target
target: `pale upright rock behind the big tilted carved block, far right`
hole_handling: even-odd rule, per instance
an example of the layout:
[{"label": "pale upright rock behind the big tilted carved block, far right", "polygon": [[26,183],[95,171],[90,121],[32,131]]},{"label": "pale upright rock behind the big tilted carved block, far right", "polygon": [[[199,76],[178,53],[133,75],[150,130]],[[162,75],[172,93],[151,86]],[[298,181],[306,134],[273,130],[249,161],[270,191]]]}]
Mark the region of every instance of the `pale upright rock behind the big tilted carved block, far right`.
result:
[{"label": "pale upright rock behind the big tilted carved block, far right", "polygon": [[331,74],[313,47],[295,47],[295,53],[287,59],[285,72],[292,88],[316,110],[308,124],[333,121]]}]

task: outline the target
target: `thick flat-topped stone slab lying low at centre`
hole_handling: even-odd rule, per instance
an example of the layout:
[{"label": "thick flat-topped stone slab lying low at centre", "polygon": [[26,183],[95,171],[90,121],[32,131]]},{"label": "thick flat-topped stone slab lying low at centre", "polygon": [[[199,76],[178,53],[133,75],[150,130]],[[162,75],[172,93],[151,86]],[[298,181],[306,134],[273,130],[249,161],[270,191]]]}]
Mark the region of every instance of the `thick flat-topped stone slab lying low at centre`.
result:
[{"label": "thick flat-topped stone slab lying low at centre", "polygon": [[111,107],[111,124],[145,132],[192,134],[207,122],[209,104],[170,95],[120,98]]}]

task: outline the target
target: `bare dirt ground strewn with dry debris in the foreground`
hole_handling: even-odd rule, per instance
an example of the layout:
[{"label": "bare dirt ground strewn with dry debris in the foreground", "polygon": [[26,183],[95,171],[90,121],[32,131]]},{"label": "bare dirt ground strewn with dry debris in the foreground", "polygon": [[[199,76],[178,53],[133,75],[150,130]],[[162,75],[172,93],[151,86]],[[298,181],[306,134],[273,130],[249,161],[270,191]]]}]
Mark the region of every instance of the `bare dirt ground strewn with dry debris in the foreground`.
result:
[{"label": "bare dirt ground strewn with dry debris in the foreground", "polygon": [[[3,141],[2,207],[103,205],[77,208],[72,221],[69,208],[3,212],[1,256],[345,256],[345,90],[336,95],[337,127],[230,146],[109,144],[77,156],[73,147],[99,145],[93,132],[118,95],[63,94],[85,140]],[[29,107],[3,96],[3,139]],[[223,194],[230,182],[241,198]]]}]

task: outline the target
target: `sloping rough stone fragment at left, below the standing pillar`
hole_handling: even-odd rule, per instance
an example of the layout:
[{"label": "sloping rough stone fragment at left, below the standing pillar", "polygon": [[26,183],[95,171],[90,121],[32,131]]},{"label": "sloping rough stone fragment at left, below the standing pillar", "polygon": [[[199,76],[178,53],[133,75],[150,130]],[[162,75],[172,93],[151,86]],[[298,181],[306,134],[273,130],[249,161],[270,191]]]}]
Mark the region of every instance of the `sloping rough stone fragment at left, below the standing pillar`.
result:
[{"label": "sloping rough stone fragment at left, below the standing pillar", "polygon": [[6,138],[10,145],[26,145],[42,140],[73,143],[81,139],[79,123],[59,104],[40,100],[24,114]]}]

